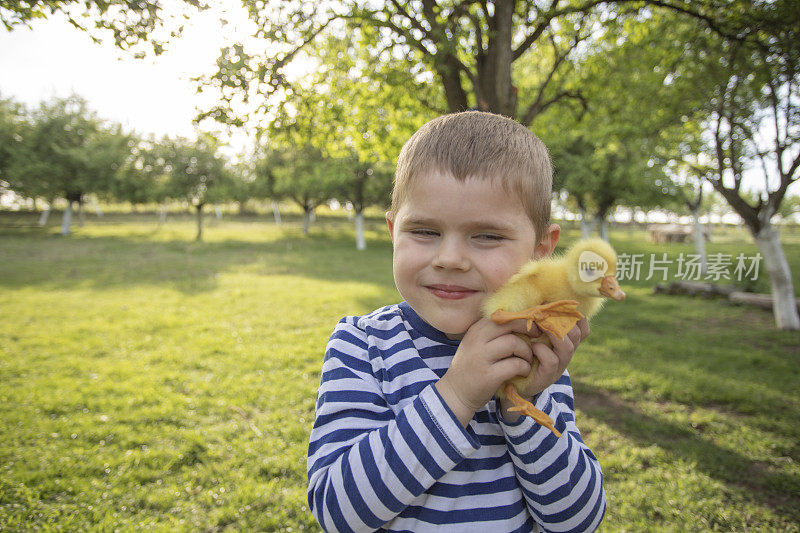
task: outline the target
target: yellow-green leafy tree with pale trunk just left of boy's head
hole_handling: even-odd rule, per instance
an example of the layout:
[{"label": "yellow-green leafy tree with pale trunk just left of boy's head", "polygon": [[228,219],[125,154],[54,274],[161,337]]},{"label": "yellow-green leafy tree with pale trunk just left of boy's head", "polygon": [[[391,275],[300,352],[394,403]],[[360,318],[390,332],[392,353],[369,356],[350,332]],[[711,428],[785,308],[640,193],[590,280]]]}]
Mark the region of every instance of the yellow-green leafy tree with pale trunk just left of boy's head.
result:
[{"label": "yellow-green leafy tree with pale trunk just left of boy's head", "polygon": [[344,172],[337,173],[331,194],[353,206],[356,248],[363,250],[363,211],[373,204],[388,205],[389,161],[433,116],[418,97],[434,101],[437,95],[430,89],[417,95],[396,90],[405,62],[375,61],[353,48],[351,39],[328,39],[314,72],[277,106],[270,138],[286,145],[313,145],[337,161]]}]

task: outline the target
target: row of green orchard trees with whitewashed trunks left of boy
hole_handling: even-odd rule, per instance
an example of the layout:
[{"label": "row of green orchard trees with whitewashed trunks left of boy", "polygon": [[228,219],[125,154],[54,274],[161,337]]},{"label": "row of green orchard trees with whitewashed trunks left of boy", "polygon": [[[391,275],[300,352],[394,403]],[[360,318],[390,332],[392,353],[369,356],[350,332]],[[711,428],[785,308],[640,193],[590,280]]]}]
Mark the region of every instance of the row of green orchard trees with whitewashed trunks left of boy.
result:
[{"label": "row of green orchard trees with whitewashed trunks left of boy", "polygon": [[326,156],[309,143],[261,149],[231,163],[220,148],[208,134],[196,140],[145,139],[125,132],[98,118],[77,96],[35,110],[0,99],[0,191],[45,201],[45,217],[55,199],[66,200],[64,235],[75,206],[82,209],[89,195],[132,205],[185,202],[197,213],[198,240],[207,204],[291,200],[304,211],[307,233],[314,209],[336,199],[354,206],[357,246],[363,248],[363,209],[389,201],[387,164],[365,164],[347,152]]}]

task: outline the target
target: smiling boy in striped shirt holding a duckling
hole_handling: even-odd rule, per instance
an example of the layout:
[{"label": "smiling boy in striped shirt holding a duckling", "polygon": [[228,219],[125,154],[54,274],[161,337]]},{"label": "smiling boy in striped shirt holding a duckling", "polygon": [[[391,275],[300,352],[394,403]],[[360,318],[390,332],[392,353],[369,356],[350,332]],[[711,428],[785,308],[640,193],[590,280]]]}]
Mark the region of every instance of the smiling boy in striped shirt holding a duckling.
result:
[{"label": "smiling boy in striped shirt holding a duckling", "polygon": [[[439,117],[403,147],[386,220],[405,301],[345,317],[325,353],[308,451],[309,505],[324,529],[599,525],[602,473],[565,371],[588,325],[551,337],[551,349],[513,334],[524,320],[499,326],[480,313],[525,261],[555,248],[551,180],[541,141],[490,113]],[[561,438],[492,398],[533,357],[536,378],[520,392]]]}]

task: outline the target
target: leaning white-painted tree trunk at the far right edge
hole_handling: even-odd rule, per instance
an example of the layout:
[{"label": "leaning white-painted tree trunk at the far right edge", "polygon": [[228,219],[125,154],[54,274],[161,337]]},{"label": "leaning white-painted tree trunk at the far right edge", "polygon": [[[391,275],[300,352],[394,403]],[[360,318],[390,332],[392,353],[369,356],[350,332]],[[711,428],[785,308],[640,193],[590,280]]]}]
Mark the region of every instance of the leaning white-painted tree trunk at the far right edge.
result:
[{"label": "leaning white-painted tree trunk at the far right edge", "polygon": [[766,224],[756,235],[756,244],[764,256],[764,266],[772,286],[772,312],[778,329],[800,329],[800,316],[794,299],[794,285],[786,254],[781,246],[780,232]]}]

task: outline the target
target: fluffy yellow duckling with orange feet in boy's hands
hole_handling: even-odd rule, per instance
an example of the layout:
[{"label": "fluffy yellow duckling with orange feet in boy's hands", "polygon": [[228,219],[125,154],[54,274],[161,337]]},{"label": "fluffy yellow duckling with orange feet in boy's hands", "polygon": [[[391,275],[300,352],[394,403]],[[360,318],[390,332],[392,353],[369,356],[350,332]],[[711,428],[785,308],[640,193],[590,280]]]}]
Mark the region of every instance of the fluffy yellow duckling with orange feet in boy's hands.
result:
[{"label": "fluffy yellow duckling with orange feet in boy's hands", "polygon": [[[542,332],[549,331],[559,338],[584,316],[591,318],[603,306],[605,298],[625,299],[616,279],[617,254],[601,239],[578,241],[560,257],[549,257],[525,263],[505,285],[486,299],[483,313],[497,324],[526,319],[528,329],[533,323]],[[531,342],[552,346],[547,335],[528,337]],[[519,411],[549,428],[556,436],[561,433],[552,419],[519,394],[536,373],[534,358],[531,372],[505,382],[497,391],[499,398],[514,404],[510,411]]]}]

